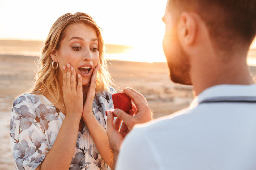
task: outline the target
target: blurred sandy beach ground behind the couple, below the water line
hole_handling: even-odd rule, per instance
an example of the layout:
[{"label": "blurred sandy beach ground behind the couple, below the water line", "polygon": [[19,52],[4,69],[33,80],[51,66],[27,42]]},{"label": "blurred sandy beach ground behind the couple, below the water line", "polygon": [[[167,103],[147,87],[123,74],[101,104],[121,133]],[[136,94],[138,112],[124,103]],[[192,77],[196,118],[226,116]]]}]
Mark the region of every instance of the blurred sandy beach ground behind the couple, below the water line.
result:
[{"label": "blurred sandy beach ground behind the couple, below the water line", "polygon": [[[0,169],[14,169],[9,142],[12,102],[26,92],[34,81],[36,57],[0,55]],[[254,80],[256,67],[250,67]],[[109,61],[109,71],[119,86],[128,86],[142,93],[153,111],[153,118],[174,113],[189,106],[193,99],[192,86],[172,83],[166,63]]]}]

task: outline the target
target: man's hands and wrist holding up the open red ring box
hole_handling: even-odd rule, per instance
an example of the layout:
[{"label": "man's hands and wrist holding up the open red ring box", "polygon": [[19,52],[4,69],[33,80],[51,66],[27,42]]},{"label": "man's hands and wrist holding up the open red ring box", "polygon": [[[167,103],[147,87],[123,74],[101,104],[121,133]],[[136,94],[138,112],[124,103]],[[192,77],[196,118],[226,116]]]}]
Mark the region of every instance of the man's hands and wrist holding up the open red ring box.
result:
[{"label": "man's hands and wrist holding up the open red ring box", "polygon": [[[133,105],[133,109],[130,111],[130,114],[127,114],[126,112],[120,109],[115,109],[114,114],[118,118],[114,123],[113,113],[111,113],[111,111],[108,111],[107,135],[110,147],[114,153],[112,164],[113,169],[115,168],[119,148],[126,134],[129,133],[129,131],[133,128],[135,124],[145,123],[152,120],[152,114],[150,108],[147,105],[147,100],[142,94],[128,87],[124,88],[123,92],[132,99],[135,106]],[[135,116],[133,116],[134,113]],[[123,123],[120,128],[122,121]]]}]

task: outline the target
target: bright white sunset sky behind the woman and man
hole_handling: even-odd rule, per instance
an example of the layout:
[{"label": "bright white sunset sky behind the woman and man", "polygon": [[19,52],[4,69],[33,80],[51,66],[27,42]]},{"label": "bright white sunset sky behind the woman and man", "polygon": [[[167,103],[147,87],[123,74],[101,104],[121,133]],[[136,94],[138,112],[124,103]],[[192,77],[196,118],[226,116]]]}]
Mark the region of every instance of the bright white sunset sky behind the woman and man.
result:
[{"label": "bright white sunset sky behind the woman and man", "polygon": [[[85,12],[103,29],[105,43],[133,46],[126,56],[165,61],[161,18],[167,0],[0,0],[0,39],[44,41],[61,15]],[[252,45],[256,48],[256,41]],[[114,57],[114,56],[112,56]],[[117,56],[118,57],[118,56]]]}]

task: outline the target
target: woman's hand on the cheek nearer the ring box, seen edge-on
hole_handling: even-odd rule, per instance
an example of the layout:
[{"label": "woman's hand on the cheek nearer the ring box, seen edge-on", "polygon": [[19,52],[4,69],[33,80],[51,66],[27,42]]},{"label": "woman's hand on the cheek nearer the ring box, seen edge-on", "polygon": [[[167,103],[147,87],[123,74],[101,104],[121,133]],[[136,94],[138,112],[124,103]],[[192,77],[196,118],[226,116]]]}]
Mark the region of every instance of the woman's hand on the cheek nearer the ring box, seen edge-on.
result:
[{"label": "woman's hand on the cheek nearer the ring box, seen edge-on", "polygon": [[84,122],[86,120],[86,117],[93,115],[92,114],[92,112],[93,112],[92,105],[93,105],[93,99],[94,99],[94,96],[95,96],[95,87],[96,87],[96,79],[97,79],[98,69],[99,69],[99,65],[96,65],[96,67],[93,70],[92,77],[91,77],[91,83],[90,83],[90,86],[89,86],[89,90],[87,92],[86,101],[85,101],[84,106],[83,106],[82,118],[83,118]]}]

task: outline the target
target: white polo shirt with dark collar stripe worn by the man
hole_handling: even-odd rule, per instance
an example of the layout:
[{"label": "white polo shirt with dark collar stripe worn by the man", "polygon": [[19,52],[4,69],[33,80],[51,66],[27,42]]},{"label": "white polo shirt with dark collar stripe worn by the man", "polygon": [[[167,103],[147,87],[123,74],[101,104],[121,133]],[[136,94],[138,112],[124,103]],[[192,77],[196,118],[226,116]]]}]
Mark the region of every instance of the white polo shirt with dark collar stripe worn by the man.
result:
[{"label": "white polo shirt with dark collar stripe worn by the man", "polygon": [[116,170],[256,169],[256,85],[216,85],[172,115],[136,125]]}]

